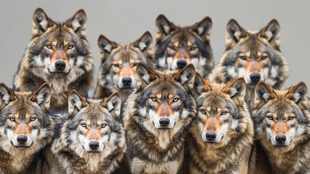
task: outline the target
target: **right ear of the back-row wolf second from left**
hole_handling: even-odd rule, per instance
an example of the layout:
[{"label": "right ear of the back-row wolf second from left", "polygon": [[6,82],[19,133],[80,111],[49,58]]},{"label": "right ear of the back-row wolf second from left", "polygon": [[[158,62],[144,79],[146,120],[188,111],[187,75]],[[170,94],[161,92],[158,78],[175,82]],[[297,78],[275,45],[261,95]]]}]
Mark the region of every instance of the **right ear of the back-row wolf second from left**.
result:
[{"label": "right ear of the back-row wolf second from left", "polygon": [[143,35],[133,43],[133,46],[148,56],[148,53],[153,48],[153,38],[151,33],[149,31],[144,32]]}]

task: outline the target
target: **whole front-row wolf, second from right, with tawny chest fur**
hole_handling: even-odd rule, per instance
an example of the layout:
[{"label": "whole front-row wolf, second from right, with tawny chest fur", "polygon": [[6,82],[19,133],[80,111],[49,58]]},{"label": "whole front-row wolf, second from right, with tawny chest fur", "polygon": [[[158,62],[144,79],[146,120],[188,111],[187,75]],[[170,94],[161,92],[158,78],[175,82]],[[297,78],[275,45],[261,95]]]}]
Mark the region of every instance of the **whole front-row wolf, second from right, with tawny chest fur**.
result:
[{"label": "whole front-row wolf, second from right, with tawny chest fur", "polygon": [[188,127],[190,174],[248,174],[254,124],[244,101],[246,82],[216,83],[196,74],[197,116]]}]

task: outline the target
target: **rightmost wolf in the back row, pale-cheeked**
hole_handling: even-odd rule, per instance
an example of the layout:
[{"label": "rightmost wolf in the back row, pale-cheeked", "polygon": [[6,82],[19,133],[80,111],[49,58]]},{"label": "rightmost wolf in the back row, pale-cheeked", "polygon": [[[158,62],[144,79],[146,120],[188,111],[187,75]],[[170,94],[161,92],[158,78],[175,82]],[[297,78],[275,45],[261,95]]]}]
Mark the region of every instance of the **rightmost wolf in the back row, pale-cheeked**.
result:
[{"label": "rightmost wolf in the back row, pale-cheeked", "polygon": [[280,51],[280,25],[272,19],[259,31],[246,31],[235,19],[226,25],[226,50],[209,74],[210,81],[228,82],[244,77],[246,101],[254,110],[254,90],[259,81],[280,89],[289,75],[289,66]]}]

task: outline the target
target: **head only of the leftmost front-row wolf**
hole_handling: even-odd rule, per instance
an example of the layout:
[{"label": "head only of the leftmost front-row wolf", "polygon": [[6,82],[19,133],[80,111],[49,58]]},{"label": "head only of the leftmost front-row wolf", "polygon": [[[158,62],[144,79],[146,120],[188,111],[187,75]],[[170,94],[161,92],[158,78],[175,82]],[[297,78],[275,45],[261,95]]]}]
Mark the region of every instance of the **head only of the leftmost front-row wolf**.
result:
[{"label": "head only of the leftmost front-row wolf", "polygon": [[32,92],[16,92],[0,84],[0,149],[38,152],[52,141],[48,114],[51,90],[47,83]]}]

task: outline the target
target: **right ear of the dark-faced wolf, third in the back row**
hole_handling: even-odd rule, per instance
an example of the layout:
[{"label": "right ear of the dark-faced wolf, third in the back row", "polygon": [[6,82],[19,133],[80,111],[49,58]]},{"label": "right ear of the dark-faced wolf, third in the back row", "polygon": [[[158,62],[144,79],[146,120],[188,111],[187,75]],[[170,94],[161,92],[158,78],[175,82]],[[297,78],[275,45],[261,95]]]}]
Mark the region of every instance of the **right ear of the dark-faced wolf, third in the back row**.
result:
[{"label": "right ear of the dark-faced wolf, third in the back row", "polygon": [[200,22],[197,22],[193,27],[192,31],[197,33],[198,36],[204,39],[206,42],[210,42],[210,35],[212,30],[212,20],[210,17],[205,17]]}]

